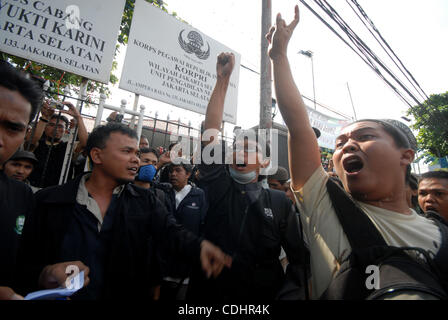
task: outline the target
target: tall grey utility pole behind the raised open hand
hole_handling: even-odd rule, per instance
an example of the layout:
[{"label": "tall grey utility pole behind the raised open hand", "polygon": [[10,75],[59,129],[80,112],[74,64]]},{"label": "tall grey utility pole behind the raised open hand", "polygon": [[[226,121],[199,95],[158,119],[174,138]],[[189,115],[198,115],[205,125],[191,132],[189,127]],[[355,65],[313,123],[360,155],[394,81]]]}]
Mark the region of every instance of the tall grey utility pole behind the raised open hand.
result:
[{"label": "tall grey utility pole behind the raised open hand", "polygon": [[262,0],[261,11],[261,63],[260,63],[260,129],[272,127],[271,61],[265,35],[271,28],[271,0]]}]

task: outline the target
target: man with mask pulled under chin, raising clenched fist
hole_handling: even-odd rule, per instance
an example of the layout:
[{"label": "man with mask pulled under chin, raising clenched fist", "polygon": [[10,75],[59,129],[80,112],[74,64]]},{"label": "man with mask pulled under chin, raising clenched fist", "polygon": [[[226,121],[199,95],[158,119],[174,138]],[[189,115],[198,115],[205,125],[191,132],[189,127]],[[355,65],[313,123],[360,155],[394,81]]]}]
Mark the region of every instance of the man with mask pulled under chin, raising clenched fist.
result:
[{"label": "man with mask pulled under chin, raising clenched fist", "polygon": [[[230,269],[213,280],[193,272],[187,299],[300,299],[305,296],[303,267],[308,263],[308,251],[299,240],[291,201],[284,192],[264,189],[259,181],[260,170],[269,164],[263,157],[266,144],[254,132],[243,131],[233,144],[232,161],[226,161],[230,165],[213,156],[215,161],[206,164],[210,163],[206,159],[210,147],[214,146],[216,152],[222,150],[222,146],[215,145],[215,133],[222,123],[234,59],[231,53],[218,56],[217,82],[207,108],[202,163],[198,165],[198,186],[209,203],[203,236],[231,255],[233,262]],[[213,138],[206,141],[210,135]],[[286,274],[278,259],[281,247],[290,262]],[[281,293],[286,287],[290,293],[287,296]]]}]

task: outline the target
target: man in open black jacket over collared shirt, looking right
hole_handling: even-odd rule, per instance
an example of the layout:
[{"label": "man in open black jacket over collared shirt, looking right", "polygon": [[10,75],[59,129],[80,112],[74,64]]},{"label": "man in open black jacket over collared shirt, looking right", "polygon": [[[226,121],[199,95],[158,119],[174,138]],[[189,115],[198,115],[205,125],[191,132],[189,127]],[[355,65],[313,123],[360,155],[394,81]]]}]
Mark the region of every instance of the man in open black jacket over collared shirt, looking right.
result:
[{"label": "man in open black jacket over collared shirt, looking right", "polygon": [[176,224],[153,192],[129,183],[139,165],[135,131],[97,127],[86,148],[92,173],[36,194],[19,253],[22,290],[64,284],[75,265],[87,285],[74,299],[148,299],[154,243],[190,261],[200,257],[208,276],[230,266],[217,247]]}]

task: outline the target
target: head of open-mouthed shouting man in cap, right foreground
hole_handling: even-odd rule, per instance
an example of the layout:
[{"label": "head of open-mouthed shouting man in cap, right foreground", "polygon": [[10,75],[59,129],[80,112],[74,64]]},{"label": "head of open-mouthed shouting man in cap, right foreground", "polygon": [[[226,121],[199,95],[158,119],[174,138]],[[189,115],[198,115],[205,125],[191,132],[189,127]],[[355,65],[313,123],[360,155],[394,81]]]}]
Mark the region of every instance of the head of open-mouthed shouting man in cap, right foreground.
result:
[{"label": "head of open-mouthed shouting man in cap, right foreground", "polygon": [[402,197],[413,159],[414,150],[399,128],[371,119],[344,127],[333,154],[344,188],[361,201]]}]

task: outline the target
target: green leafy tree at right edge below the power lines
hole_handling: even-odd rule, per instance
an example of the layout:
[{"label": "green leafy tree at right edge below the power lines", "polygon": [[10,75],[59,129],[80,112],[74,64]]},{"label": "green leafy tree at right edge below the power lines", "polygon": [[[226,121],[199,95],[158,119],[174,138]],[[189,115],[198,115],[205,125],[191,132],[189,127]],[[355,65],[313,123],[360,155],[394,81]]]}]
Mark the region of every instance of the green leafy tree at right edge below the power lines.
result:
[{"label": "green leafy tree at right edge below the power lines", "polygon": [[412,128],[418,131],[421,151],[434,158],[448,155],[448,92],[433,94],[429,99],[407,112],[415,119]]}]

